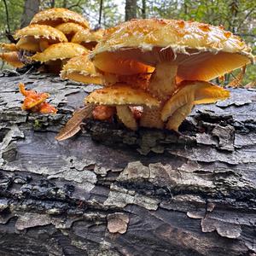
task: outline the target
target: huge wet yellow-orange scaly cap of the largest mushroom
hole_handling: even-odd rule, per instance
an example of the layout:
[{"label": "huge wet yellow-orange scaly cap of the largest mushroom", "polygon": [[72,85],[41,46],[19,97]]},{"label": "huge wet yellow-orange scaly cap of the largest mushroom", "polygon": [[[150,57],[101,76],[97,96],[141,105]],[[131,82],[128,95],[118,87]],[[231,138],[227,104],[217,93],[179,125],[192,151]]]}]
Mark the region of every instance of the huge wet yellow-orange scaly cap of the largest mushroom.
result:
[{"label": "huge wet yellow-orange scaly cap of the largest mushroom", "polygon": [[[222,27],[183,20],[131,20],[108,29],[93,52],[102,59],[133,59],[154,66],[173,61],[177,80],[211,80],[253,61],[241,38]],[[119,64],[115,73],[123,74]],[[99,67],[108,72],[108,64]],[[114,69],[114,68],[113,68]]]}]

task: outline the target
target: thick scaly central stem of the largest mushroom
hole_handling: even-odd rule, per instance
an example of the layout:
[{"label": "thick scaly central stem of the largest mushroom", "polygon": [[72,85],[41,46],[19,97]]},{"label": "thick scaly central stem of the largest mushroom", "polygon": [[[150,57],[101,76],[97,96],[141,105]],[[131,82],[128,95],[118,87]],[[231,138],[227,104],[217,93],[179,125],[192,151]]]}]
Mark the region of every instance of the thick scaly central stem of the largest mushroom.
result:
[{"label": "thick scaly central stem of the largest mushroom", "polygon": [[154,73],[149,80],[148,90],[156,96],[160,102],[160,108],[143,108],[140,125],[151,128],[163,128],[164,122],[160,118],[160,111],[163,104],[172,96],[177,89],[176,84],[177,65],[172,62],[160,62],[156,65]]}]

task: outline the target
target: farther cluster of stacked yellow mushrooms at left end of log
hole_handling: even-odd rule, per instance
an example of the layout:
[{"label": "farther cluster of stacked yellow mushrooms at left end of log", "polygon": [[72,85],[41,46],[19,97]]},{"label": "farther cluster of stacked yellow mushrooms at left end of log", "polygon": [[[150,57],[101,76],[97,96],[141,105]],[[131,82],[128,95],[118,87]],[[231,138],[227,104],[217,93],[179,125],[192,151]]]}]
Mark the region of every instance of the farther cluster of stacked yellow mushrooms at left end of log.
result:
[{"label": "farther cluster of stacked yellow mushrooms at left end of log", "polygon": [[71,10],[46,9],[34,15],[29,26],[15,32],[17,44],[0,45],[1,49],[11,50],[0,57],[15,67],[39,61],[44,63],[44,71],[59,73],[69,59],[84,59],[82,55],[90,53],[102,34],[103,30],[90,30],[89,22]]}]

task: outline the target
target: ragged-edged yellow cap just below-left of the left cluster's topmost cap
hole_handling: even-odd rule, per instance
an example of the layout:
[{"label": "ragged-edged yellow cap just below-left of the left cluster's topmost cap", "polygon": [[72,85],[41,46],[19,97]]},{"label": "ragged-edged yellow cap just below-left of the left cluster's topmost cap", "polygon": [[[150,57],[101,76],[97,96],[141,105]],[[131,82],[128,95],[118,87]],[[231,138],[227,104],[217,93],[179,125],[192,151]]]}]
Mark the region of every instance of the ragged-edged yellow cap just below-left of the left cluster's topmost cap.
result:
[{"label": "ragged-edged yellow cap just below-left of the left cluster's topmost cap", "polygon": [[56,42],[67,42],[67,38],[63,32],[55,29],[52,26],[46,25],[29,25],[21,28],[17,32],[15,32],[15,39],[19,38],[46,38],[49,40],[55,40]]}]

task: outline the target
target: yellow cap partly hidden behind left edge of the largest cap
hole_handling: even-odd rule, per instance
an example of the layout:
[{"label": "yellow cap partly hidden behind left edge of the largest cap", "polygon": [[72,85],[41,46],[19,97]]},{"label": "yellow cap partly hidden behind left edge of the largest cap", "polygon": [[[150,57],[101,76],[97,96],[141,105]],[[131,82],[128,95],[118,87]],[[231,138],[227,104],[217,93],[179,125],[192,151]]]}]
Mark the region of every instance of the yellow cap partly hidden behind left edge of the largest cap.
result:
[{"label": "yellow cap partly hidden behind left edge of the largest cap", "polygon": [[102,84],[102,78],[96,73],[88,55],[79,55],[67,61],[61,70],[61,79],[72,79],[85,84]]}]

